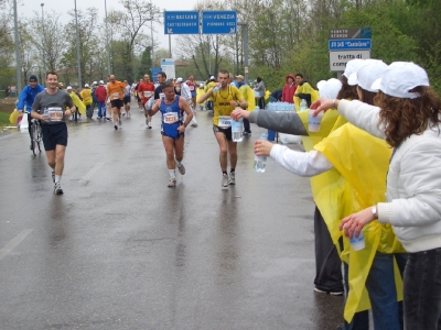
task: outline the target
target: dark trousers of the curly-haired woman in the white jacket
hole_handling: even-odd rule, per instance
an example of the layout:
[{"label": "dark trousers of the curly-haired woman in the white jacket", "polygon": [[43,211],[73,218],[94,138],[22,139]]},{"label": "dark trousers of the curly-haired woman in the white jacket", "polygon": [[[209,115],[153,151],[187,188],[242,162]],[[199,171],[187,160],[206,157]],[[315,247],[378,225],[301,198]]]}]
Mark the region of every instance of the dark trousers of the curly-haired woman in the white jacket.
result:
[{"label": "dark trousers of the curly-haired woman in the white jacket", "polygon": [[405,329],[441,329],[441,248],[409,253],[405,268]]}]

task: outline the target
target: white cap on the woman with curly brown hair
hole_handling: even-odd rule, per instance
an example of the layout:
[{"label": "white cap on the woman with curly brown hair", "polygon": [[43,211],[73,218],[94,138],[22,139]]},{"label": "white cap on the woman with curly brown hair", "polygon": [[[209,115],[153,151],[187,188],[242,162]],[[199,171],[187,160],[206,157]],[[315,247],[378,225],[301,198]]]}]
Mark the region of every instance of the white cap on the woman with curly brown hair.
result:
[{"label": "white cap on the woman with curly brown hair", "polygon": [[420,94],[409,90],[417,86],[430,86],[426,70],[412,62],[394,62],[385,69],[381,78],[374,81],[370,88],[379,89],[391,97],[416,99],[420,97]]}]

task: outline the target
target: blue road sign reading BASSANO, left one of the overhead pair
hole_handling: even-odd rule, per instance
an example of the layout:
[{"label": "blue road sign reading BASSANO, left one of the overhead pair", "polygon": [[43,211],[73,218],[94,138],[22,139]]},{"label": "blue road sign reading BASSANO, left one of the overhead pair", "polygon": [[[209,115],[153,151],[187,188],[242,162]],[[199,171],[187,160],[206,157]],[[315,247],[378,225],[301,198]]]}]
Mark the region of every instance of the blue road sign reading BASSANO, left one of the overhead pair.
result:
[{"label": "blue road sign reading BASSANO, left one of the overhead pair", "polygon": [[198,34],[198,11],[164,11],[165,34]]}]

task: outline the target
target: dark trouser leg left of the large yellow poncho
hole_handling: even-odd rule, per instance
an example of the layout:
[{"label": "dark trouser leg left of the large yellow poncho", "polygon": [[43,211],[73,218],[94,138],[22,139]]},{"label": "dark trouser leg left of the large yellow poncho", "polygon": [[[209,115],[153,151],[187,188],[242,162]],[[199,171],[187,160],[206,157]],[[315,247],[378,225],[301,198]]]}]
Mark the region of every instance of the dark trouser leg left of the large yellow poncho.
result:
[{"label": "dark trouser leg left of the large yellow poncho", "polygon": [[342,261],[318,207],[314,211],[314,237],[315,287],[324,292],[343,293]]}]

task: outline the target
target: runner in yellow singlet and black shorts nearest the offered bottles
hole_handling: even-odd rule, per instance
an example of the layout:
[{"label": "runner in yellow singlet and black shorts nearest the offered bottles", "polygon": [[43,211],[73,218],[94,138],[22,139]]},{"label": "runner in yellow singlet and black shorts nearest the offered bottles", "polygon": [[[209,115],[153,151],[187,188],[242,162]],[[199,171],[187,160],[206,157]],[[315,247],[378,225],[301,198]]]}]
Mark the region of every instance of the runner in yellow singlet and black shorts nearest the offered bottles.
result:
[{"label": "runner in yellow singlet and black shorts nearest the offered bottles", "polygon": [[[219,163],[223,187],[236,184],[237,142],[233,142],[232,139],[232,118],[229,116],[235,107],[240,107],[244,110],[248,107],[247,101],[237,87],[228,85],[228,72],[220,70],[217,76],[217,84],[214,88],[209,88],[208,91],[197,100],[198,103],[202,103],[208,98],[214,99],[213,131],[220,150]],[[219,89],[216,91],[217,88]],[[230,163],[229,177],[227,173],[228,153]]]}]

